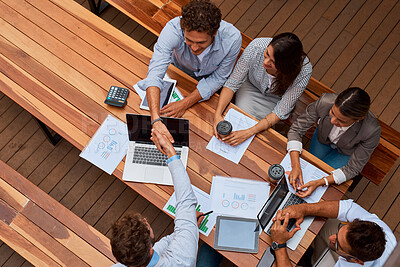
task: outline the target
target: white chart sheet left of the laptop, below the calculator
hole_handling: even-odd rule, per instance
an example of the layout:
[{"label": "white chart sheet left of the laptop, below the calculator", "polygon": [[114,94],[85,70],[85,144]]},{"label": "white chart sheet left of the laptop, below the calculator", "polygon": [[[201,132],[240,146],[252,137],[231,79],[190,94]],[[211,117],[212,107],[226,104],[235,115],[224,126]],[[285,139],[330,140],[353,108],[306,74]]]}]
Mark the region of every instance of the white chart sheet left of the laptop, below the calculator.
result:
[{"label": "white chart sheet left of the laptop, below the calculator", "polygon": [[112,174],[127,150],[126,123],[108,115],[79,156]]}]

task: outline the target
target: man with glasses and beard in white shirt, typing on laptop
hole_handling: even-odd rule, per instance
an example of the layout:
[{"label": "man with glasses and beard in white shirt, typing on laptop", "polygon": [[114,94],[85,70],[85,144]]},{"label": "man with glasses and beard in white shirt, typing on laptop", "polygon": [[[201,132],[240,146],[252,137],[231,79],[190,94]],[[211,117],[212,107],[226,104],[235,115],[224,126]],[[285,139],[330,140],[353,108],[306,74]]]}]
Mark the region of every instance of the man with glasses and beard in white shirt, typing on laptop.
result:
[{"label": "man with glasses and beard in white shirt, typing on laptop", "polygon": [[[271,248],[275,248],[277,266],[290,266],[286,241],[300,230],[304,216],[331,218],[315,238],[313,261],[317,266],[383,266],[397,243],[378,216],[352,199],[293,205],[279,210],[271,227]],[[291,218],[296,219],[296,228],[288,232]],[[330,250],[325,250],[328,246]],[[318,262],[318,258],[323,261]]]}]

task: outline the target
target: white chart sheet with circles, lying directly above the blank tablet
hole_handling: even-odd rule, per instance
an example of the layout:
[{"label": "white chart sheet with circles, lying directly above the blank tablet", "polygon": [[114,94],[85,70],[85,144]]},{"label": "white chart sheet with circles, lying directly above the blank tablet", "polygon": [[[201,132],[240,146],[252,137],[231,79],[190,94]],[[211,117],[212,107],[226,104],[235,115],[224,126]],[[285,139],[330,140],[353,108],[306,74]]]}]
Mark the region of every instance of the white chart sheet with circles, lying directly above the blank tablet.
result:
[{"label": "white chart sheet with circles, lying directly above the blank tablet", "polygon": [[211,209],[214,213],[257,219],[269,197],[266,182],[214,176],[211,185]]}]

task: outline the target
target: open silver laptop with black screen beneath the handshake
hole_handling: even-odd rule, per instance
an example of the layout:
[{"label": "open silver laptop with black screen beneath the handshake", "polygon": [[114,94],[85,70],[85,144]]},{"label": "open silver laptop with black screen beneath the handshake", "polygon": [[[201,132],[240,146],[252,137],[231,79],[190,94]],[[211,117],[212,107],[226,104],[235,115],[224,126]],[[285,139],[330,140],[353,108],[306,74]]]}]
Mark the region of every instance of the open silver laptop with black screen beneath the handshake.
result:
[{"label": "open silver laptop with black screen beneath the handshake", "polygon": [[[151,117],[126,114],[128,126],[128,153],[122,179],[124,181],[173,185],[166,160],[151,137]],[[175,140],[173,146],[186,168],[189,154],[189,120],[165,118],[163,122]]]}]

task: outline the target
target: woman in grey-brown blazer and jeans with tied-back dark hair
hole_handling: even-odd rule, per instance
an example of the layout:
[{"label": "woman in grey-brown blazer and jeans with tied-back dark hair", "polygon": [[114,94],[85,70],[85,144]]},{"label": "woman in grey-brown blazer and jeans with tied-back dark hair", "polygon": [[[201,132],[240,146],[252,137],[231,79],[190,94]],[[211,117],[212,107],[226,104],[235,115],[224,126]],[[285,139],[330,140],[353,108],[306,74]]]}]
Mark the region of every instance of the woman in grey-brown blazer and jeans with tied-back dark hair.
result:
[{"label": "woman in grey-brown blazer and jeans with tied-back dark hair", "polygon": [[[358,87],[351,87],[338,94],[323,94],[310,104],[304,114],[290,127],[287,150],[292,171],[289,182],[305,197],[318,186],[341,184],[358,175],[379,144],[381,127],[369,111],[369,95]],[[310,153],[335,170],[319,180],[303,183],[300,167],[302,137],[318,122],[310,144]],[[304,190],[304,191],[303,191]]]}]

